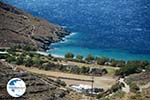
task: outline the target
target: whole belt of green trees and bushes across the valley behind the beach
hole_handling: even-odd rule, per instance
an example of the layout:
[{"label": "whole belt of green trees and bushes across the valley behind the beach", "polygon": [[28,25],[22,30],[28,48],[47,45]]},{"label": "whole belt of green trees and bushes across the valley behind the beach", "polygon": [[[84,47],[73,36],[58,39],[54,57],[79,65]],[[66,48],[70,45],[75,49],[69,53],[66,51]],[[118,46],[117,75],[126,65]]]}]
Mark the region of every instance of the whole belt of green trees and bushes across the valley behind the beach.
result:
[{"label": "whole belt of green trees and bushes across the valley behind the beach", "polygon": [[[89,67],[81,67],[79,66],[64,66],[59,64],[52,64],[52,62],[58,62],[58,61],[75,61],[75,62],[82,62],[82,63],[94,63],[99,65],[112,65],[114,67],[120,67],[119,70],[110,69],[109,67],[105,70],[99,70],[96,69],[94,71],[94,75],[100,74],[106,74],[110,73],[110,75],[117,75],[117,76],[128,76],[130,74],[134,73],[140,73],[143,70],[150,71],[150,63],[148,61],[128,61],[127,63],[122,60],[114,60],[109,59],[105,57],[94,57],[93,55],[89,54],[85,59],[83,59],[83,56],[77,55],[74,56],[73,53],[67,53],[65,55],[66,59],[59,59],[50,56],[42,56],[39,54],[35,54],[33,51],[35,50],[32,46],[15,46],[12,47],[10,50],[8,50],[7,56],[0,56],[1,58],[5,58],[8,62],[16,63],[17,65],[25,65],[27,67],[33,66],[33,67],[39,67],[40,69],[44,70],[57,70],[57,71],[63,71],[63,72],[70,72],[70,73],[76,73],[76,74],[93,74],[89,72]],[[44,63],[48,63],[48,66],[55,66],[56,68],[49,68],[48,66],[45,66]],[[100,75],[99,74],[99,75]]]}]

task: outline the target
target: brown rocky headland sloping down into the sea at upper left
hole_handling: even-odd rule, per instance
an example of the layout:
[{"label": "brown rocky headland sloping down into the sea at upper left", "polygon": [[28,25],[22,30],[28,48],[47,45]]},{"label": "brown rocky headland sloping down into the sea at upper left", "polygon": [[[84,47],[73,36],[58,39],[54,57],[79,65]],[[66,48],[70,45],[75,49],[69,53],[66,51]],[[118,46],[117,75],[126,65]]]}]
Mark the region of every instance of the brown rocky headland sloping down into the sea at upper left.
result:
[{"label": "brown rocky headland sloping down into the sea at upper left", "polygon": [[32,45],[39,50],[48,49],[70,32],[59,25],[0,2],[0,47]]}]

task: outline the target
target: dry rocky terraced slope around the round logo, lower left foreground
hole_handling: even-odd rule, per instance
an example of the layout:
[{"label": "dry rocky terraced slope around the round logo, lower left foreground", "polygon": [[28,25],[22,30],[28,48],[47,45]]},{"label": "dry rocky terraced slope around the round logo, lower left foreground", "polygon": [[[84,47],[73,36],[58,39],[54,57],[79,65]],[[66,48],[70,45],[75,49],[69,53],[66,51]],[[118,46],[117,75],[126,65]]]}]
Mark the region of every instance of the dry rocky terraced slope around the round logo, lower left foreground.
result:
[{"label": "dry rocky terraced slope around the round logo, lower left foreground", "polygon": [[[27,90],[20,98],[12,98],[6,91],[6,84],[11,78],[25,81]],[[67,90],[56,81],[15,69],[14,66],[0,61],[0,100],[81,100],[82,96]]]}]

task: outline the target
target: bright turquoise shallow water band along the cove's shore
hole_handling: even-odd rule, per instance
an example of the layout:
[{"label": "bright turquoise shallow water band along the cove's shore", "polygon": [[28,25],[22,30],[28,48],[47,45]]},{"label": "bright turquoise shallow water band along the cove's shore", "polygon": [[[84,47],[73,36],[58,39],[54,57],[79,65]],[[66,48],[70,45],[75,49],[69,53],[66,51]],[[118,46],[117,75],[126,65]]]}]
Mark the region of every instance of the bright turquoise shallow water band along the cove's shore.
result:
[{"label": "bright turquoise shallow water band along the cove's shore", "polygon": [[75,55],[82,55],[86,57],[89,54],[92,54],[97,57],[109,57],[118,60],[150,60],[150,55],[145,54],[132,54],[125,50],[117,50],[117,49],[89,49],[83,47],[74,47],[71,46],[78,36],[81,33],[73,33],[71,36],[67,36],[64,41],[60,41],[58,43],[53,43],[50,47],[52,49],[48,50],[48,53],[51,53],[55,56],[64,57],[64,55],[68,52],[72,52]]}]

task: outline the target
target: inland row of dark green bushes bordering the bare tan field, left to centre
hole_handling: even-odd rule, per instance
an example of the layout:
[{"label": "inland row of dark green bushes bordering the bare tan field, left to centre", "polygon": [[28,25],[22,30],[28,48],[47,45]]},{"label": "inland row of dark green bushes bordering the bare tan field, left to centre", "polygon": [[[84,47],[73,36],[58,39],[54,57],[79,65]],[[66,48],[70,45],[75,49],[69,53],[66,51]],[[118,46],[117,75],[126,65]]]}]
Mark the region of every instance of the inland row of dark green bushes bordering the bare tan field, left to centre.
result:
[{"label": "inland row of dark green bushes bordering the bare tan field, left to centre", "polygon": [[6,60],[10,63],[25,65],[26,67],[37,67],[43,70],[54,70],[85,75],[103,75],[107,73],[106,69],[92,68],[91,70],[90,67],[55,64],[53,61],[45,59],[48,59],[48,57],[30,52],[23,52],[19,54],[13,53],[6,57]]}]

